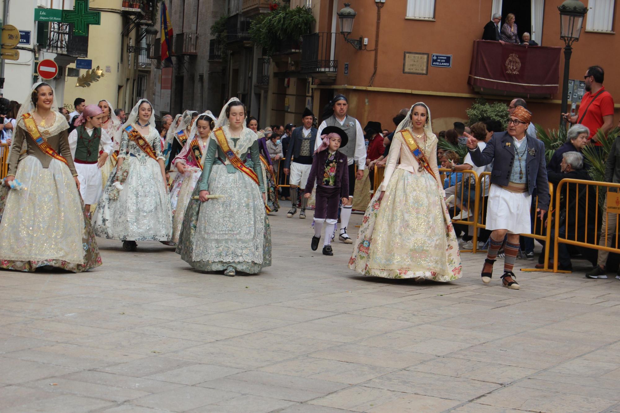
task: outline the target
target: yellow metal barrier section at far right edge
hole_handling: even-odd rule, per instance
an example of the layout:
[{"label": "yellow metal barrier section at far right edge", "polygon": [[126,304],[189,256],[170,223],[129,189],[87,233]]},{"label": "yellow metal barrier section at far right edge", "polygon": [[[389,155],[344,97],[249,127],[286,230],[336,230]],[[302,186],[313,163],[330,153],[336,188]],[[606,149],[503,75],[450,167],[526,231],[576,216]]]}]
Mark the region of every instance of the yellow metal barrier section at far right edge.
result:
[{"label": "yellow metal barrier section at far right edge", "polygon": [[[571,195],[570,193],[570,185],[569,184],[575,184],[574,187],[574,191],[576,192],[575,194]],[[568,211],[568,207],[569,207],[569,202],[571,200],[578,200],[578,194],[579,194],[579,187],[580,185],[582,185],[583,187],[585,187],[585,208],[586,208],[586,213],[585,213],[585,222],[580,223],[579,221],[579,203],[578,201],[575,202],[575,233],[574,233],[574,239],[569,239],[569,211]],[[562,189],[564,189],[565,187],[565,193],[562,193]],[[596,204],[595,204],[595,216],[594,216],[594,244],[591,244],[588,241],[588,220],[590,220],[592,217],[588,216],[588,204],[590,203],[590,188],[591,187],[596,187],[595,190],[595,200],[596,200]],[[600,188],[606,188],[607,192],[605,194],[605,202],[606,205],[604,205],[604,209],[601,211],[600,205],[599,205],[599,200],[600,200]],[[616,191],[613,191],[611,189],[615,189]],[[611,190],[611,191],[610,191]],[[553,262],[553,272],[570,272],[570,271],[564,271],[564,270],[559,270],[558,269],[558,262],[559,262],[559,258],[558,258],[558,249],[559,249],[559,244],[569,244],[569,245],[573,245],[573,246],[579,246],[579,247],[587,247],[587,248],[591,248],[591,249],[597,249],[597,250],[602,250],[602,251],[609,251],[609,252],[615,252],[616,254],[620,254],[620,248],[618,248],[618,219],[616,219],[616,248],[613,248],[611,246],[608,246],[608,238],[609,238],[609,216],[610,215],[618,215],[618,213],[620,212],[620,194],[618,193],[618,191],[620,191],[620,184],[612,184],[610,182],[598,182],[598,181],[593,181],[593,180],[580,180],[580,179],[562,179],[560,181],[560,183],[557,185],[557,193],[556,193],[556,205],[560,205],[560,202],[562,202],[562,195],[564,195],[563,200],[564,200],[564,206],[565,208],[557,208],[556,207],[556,224],[555,224],[555,229],[554,229],[554,238],[555,238],[555,242],[554,242],[554,246],[553,246],[553,252],[554,252],[554,262]],[[613,205],[611,205],[611,208],[608,208],[609,205],[609,194],[614,194],[613,198],[611,198],[611,201],[613,202]],[[583,195],[583,194],[582,194]],[[618,202],[618,203],[616,203]],[[565,220],[565,234],[564,234],[564,238],[560,238],[560,213],[562,210],[566,210],[566,220]],[[609,210],[611,210],[611,213],[609,212]],[[601,212],[600,212],[601,211]],[[603,211],[605,213],[604,219],[606,222],[605,225],[605,243],[604,245],[598,245],[599,244],[599,238],[600,235],[602,235],[602,229],[601,229],[601,234],[598,233],[598,216],[599,214],[601,216],[603,216]],[[570,211],[572,213],[572,211]],[[617,218],[617,217],[616,217]],[[580,226],[583,226],[584,229],[584,234],[583,234],[583,239],[584,241],[577,241],[578,238],[578,228]]]}]

